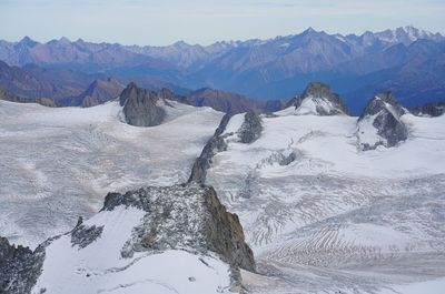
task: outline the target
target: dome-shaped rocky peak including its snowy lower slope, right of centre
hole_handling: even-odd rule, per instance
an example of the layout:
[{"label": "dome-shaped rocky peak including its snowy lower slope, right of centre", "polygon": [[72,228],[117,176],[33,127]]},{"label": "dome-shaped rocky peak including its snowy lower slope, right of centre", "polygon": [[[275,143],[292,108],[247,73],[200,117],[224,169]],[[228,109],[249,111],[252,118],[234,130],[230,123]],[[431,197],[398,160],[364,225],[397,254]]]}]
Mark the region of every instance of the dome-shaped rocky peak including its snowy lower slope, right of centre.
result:
[{"label": "dome-shaped rocky peak including its snowy lower slope, right of centre", "polygon": [[312,82],[293,105],[295,114],[337,115],[348,114],[348,108],[342,98],[330,91],[329,85]]}]

